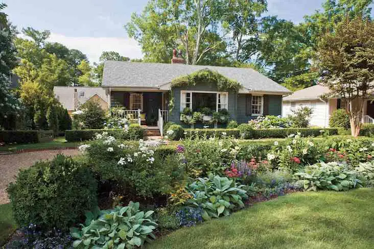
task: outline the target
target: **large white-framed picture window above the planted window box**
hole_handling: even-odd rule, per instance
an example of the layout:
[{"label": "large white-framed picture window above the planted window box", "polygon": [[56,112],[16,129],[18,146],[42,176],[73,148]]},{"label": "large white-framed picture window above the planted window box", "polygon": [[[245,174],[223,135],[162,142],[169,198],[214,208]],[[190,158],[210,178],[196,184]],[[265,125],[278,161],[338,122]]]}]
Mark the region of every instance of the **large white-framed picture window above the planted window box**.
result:
[{"label": "large white-framed picture window above the planted window box", "polygon": [[203,92],[203,91],[181,91],[180,93],[180,111],[184,108],[191,108],[198,112],[207,107],[212,111],[219,111],[228,108],[227,92]]}]

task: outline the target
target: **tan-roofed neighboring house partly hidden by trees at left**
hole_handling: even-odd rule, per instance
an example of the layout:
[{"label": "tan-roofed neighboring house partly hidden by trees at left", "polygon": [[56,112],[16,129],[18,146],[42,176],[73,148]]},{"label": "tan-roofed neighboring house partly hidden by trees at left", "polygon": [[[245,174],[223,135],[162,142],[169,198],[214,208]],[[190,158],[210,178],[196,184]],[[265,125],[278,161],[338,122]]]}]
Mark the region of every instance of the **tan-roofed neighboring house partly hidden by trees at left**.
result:
[{"label": "tan-roofed neighboring house partly hidden by trees at left", "polygon": [[109,108],[106,91],[101,87],[55,86],[53,92],[69,114],[90,100],[97,101],[103,110]]}]

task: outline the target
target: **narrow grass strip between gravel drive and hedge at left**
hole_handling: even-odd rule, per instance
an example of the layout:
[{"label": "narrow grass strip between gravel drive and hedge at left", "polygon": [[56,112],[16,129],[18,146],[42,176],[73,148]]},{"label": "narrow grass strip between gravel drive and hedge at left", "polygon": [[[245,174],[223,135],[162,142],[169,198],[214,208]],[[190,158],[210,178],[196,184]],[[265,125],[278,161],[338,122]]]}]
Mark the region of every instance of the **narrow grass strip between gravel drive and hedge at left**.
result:
[{"label": "narrow grass strip between gravel drive and hedge at left", "polygon": [[65,137],[57,137],[53,141],[45,143],[27,143],[27,144],[12,144],[1,146],[0,151],[18,151],[18,150],[30,150],[37,148],[64,148],[78,146],[81,142],[66,142]]}]

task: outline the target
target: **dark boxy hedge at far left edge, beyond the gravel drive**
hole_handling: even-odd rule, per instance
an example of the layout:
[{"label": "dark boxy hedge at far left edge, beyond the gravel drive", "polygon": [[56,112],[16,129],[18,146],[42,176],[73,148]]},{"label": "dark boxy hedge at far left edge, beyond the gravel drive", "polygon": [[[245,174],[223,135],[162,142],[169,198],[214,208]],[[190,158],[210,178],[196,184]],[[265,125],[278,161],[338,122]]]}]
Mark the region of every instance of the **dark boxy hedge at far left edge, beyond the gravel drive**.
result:
[{"label": "dark boxy hedge at far left edge, beyond the gravel drive", "polygon": [[53,139],[53,131],[0,131],[0,142],[39,143]]}]

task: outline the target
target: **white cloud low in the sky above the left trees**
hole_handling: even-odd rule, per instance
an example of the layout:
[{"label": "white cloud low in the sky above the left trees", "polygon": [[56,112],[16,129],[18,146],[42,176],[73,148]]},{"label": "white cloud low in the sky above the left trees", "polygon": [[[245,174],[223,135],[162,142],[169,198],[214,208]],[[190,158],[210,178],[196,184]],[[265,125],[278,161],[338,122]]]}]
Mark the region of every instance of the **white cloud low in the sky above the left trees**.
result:
[{"label": "white cloud low in the sky above the left trees", "polygon": [[130,58],[143,58],[142,49],[134,39],[125,37],[70,37],[51,33],[50,42],[59,42],[69,49],[78,49],[88,60],[98,62],[103,51],[115,51]]}]

